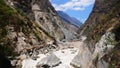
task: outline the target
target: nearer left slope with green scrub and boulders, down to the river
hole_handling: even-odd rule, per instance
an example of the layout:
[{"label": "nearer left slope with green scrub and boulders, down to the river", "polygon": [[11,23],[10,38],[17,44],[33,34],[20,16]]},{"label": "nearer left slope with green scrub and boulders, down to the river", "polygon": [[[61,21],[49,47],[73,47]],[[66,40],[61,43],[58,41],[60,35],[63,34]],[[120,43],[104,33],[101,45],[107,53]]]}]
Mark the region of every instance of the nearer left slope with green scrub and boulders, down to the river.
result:
[{"label": "nearer left slope with green scrub and boulders, down to the river", "polygon": [[[0,0],[0,55],[16,60],[17,63],[21,60],[21,55],[37,55],[41,48],[52,47],[55,43],[55,38],[36,22]],[[5,68],[4,64],[9,63],[7,60],[0,60],[0,68]],[[21,64],[18,63],[18,67],[19,65]]]}]

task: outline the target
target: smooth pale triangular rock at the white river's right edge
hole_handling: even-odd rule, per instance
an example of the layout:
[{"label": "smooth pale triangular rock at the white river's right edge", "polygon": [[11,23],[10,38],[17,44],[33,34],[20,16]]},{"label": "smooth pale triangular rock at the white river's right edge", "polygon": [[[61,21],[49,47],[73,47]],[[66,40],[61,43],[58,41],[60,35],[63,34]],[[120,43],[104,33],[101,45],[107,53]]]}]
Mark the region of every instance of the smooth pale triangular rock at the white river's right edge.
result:
[{"label": "smooth pale triangular rock at the white river's right edge", "polygon": [[70,65],[75,68],[89,68],[89,63],[91,63],[91,52],[84,45],[81,47],[74,59],[70,62]]}]

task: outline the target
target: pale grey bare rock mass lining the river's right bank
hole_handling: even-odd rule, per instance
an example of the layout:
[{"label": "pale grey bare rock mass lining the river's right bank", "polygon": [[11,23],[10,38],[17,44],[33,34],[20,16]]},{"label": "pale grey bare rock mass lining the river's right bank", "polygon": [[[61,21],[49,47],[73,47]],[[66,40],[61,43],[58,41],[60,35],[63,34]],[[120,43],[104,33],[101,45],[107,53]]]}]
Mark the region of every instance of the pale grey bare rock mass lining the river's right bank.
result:
[{"label": "pale grey bare rock mass lining the river's right bank", "polygon": [[93,53],[87,46],[81,48],[78,55],[71,61],[71,65],[78,68],[108,68],[108,63],[102,57],[112,51],[115,45],[115,35],[108,32],[96,43]]}]

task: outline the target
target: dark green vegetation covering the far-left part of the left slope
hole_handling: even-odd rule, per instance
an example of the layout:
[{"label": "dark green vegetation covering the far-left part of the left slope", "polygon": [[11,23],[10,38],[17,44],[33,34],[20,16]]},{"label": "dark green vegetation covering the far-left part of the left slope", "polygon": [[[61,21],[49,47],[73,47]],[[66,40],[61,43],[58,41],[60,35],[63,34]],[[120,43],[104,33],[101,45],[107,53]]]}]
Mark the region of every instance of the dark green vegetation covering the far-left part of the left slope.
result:
[{"label": "dark green vegetation covering the far-left part of the left slope", "polygon": [[20,31],[20,27],[25,23],[19,19],[17,12],[0,0],[0,54],[5,56],[16,55],[11,39],[7,37],[7,26],[14,26],[15,31]]}]

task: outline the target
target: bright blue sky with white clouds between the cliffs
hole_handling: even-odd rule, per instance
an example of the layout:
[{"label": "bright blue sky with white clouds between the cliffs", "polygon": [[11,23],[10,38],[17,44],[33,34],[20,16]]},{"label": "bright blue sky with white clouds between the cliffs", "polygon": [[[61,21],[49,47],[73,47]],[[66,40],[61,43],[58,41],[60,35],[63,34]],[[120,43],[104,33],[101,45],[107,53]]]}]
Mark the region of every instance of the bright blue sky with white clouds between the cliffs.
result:
[{"label": "bright blue sky with white clouds between the cliffs", "polygon": [[50,2],[56,10],[64,11],[84,23],[92,11],[95,0],[50,0]]}]

